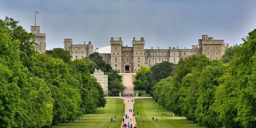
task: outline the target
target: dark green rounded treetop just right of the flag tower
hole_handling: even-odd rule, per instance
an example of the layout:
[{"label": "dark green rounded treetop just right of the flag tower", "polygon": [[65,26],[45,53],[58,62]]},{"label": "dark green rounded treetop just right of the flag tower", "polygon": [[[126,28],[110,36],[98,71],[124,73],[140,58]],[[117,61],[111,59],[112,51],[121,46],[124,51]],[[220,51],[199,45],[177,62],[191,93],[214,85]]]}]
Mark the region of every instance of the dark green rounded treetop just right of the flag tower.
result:
[{"label": "dark green rounded treetop just right of the flag tower", "polygon": [[71,55],[68,50],[64,50],[63,48],[53,48],[53,50],[46,50],[46,54],[51,55],[53,58],[60,58],[64,63],[70,63]]}]

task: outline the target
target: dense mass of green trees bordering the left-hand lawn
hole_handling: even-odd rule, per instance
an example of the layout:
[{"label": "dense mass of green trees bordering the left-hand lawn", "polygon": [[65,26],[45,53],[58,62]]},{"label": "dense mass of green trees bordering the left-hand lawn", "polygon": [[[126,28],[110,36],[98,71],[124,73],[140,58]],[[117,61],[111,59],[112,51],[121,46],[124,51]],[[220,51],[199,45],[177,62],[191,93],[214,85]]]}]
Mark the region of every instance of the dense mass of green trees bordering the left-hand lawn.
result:
[{"label": "dense mass of green trees bordering the left-hand lawn", "polygon": [[18,23],[0,19],[0,127],[50,126],[105,106],[103,89],[90,75],[95,65],[71,61],[60,48],[39,54],[34,34]]}]

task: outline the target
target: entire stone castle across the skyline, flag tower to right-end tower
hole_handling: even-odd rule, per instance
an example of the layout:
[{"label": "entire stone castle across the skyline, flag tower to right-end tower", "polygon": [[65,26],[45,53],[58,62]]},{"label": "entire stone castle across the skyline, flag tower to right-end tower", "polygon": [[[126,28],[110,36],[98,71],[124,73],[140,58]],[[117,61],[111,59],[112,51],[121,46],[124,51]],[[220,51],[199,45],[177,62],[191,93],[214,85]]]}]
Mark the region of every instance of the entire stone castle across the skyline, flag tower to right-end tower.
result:
[{"label": "entire stone castle across the skyline, flag tower to right-end tower", "polygon": [[[35,34],[35,41],[38,45],[35,50],[44,53],[46,50],[45,33],[40,33],[40,26],[31,26],[31,32]],[[88,44],[72,44],[72,39],[64,39],[64,50],[68,50],[71,54],[71,60],[82,59],[93,53],[93,45]],[[225,49],[229,44],[225,44],[224,40],[216,40],[208,35],[202,35],[202,39],[198,39],[198,45],[192,45],[191,49],[179,49],[169,47],[169,49],[144,49],[145,40],[141,37],[136,40],[133,37],[132,47],[123,46],[121,37],[114,40],[110,39],[110,47],[104,47],[103,53],[98,51],[103,57],[105,63],[110,64],[111,67],[118,72],[137,72],[140,66],[151,67],[157,63],[167,61],[169,63],[177,64],[182,57],[188,57],[192,54],[205,54],[210,60],[220,59],[225,53]],[[109,50],[108,50],[109,48]],[[97,48],[98,49],[98,48]],[[96,49],[95,49],[96,50]],[[109,52],[106,52],[109,51]]]}]

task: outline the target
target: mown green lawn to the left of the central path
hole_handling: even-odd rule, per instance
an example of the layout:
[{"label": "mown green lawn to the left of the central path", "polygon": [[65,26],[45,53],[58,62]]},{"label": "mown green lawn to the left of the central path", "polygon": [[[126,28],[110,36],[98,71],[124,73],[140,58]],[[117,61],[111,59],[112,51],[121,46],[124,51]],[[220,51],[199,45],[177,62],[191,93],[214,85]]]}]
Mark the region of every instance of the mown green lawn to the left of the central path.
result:
[{"label": "mown green lawn to the left of the central path", "polygon": [[[124,114],[124,99],[106,98],[104,108],[97,109],[96,113],[83,116],[72,123],[54,125],[51,128],[120,128]],[[116,122],[111,123],[110,118],[116,117]]]}]

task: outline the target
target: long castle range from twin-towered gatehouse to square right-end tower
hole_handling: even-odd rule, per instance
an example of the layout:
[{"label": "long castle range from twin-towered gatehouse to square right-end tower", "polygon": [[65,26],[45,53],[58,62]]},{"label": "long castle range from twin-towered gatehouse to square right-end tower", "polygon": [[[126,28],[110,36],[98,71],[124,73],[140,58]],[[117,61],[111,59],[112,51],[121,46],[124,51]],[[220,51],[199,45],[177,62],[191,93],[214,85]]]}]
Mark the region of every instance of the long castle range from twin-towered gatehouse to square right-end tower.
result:
[{"label": "long castle range from twin-towered gatehouse to square right-end tower", "polygon": [[198,40],[198,45],[192,45],[192,49],[144,49],[145,41],[144,37],[141,37],[139,41],[133,38],[133,47],[123,46],[121,37],[114,40],[110,39],[111,54],[101,53],[103,60],[110,64],[111,67],[118,72],[136,72],[140,66],[151,67],[162,61],[168,61],[170,63],[177,64],[182,57],[188,57],[192,54],[200,55],[206,54],[210,60],[221,58],[225,49],[229,47],[229,44],[225,44],[223,40],[215,40],[208,35],[203,35],[202,39]]}]

